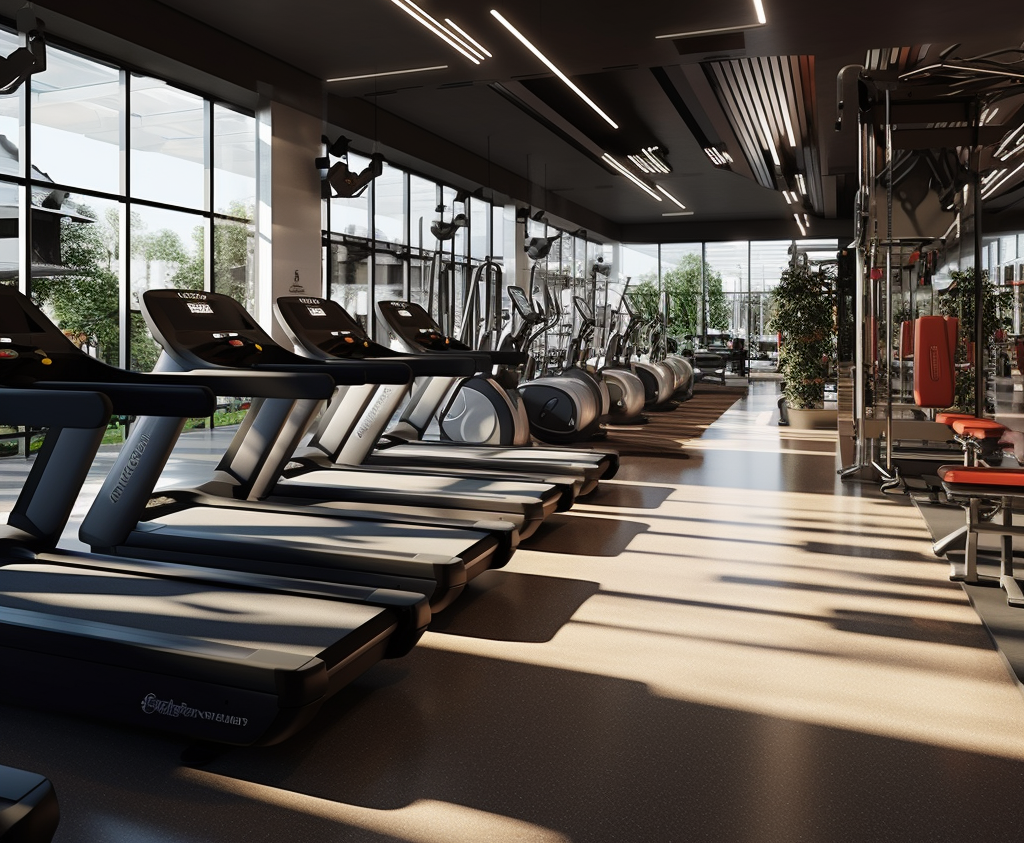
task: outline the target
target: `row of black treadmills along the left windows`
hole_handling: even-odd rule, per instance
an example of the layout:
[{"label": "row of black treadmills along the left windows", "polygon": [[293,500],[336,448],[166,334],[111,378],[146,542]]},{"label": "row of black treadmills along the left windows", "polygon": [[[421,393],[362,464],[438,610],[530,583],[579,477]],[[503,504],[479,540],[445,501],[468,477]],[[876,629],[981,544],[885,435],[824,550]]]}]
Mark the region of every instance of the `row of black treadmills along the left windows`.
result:
[{"label": "row of black treadmills along the left windows", "polygon": [[[421,388],[470,377],[480,361],[301,357],[213,293],[151,292],[143,312],[164,346],[151,375],[88,356],[0,288],[4,418],[48,428],[0,531],[9,702],[215,744],[284,740],[378,660],[408,652],[432,612],[617,465],[613,454],[496,447],[472,469],[371,469],[394,448],[370,441],[368,420],[388,416],[414,373]],[[209,415],[214,395],[252,397],[253,409],[207,482],[156,492],[185,418]],[[352,406],[361,421],[343,423]],[[92,551],[59,550],[112,413],[140,418],[82,523]],[[356,440],[368,460],[343,462]],[[456,448],[401,447],[428,466],[435,449]],[[409,497],[385,494],[397,489]],[[85,682],[98,690],[83,700],[73,691]]]}]

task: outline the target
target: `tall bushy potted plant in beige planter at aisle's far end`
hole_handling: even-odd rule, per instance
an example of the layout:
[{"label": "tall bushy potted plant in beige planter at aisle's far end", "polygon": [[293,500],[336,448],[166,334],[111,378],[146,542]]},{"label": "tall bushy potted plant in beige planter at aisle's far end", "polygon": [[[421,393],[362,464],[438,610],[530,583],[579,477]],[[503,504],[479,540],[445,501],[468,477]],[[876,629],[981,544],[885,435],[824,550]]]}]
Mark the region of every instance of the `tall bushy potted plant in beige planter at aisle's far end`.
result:
[{"label": "tall bushy potted plant in beige planter at aisle's far end", "polygon": [[797,263],[772,291],[769,329],[779,334],[781,424],[835,427],[824,410],[825,380],[836,359],[836,276],[830,266]]}]

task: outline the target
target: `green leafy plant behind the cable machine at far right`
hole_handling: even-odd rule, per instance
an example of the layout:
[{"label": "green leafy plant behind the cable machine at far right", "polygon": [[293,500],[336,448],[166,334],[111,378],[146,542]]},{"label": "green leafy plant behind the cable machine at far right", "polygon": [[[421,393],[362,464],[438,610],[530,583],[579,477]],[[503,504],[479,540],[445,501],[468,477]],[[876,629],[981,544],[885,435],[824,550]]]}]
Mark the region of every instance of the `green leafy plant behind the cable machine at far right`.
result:
[{"label": "green leafy plant behind the cable machine at far right", "polygon": [[[953,360],[956,363],[956,385],[953,392],[951,409],[962,413],[974,413],[974,357],[969,355],[968,343],[975,340],[975,283],[974,267],[964,271],[950,272],[953,283],[939,295],[939,312],[944,317],[956,317],[957,343]],[[1012,322],[1009,313],[1014,304],[1014,294],[1011,290],[999,292],[987,271],[981,273],[982,285],[982,342],[985,347],[995,341],[995,332],[1007,329]]]}]

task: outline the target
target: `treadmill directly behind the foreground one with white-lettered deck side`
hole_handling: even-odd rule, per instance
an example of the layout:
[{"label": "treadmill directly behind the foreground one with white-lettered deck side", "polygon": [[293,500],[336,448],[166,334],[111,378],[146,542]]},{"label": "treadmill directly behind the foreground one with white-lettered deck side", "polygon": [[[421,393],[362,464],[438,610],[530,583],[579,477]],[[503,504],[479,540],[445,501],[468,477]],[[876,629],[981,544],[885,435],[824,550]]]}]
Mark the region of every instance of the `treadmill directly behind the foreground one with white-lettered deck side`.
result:
[{"label": "treadmill directly behind the foreground one with white-lettered deck side", "polygon": [[[181,300],[202,304],[196,297],[204,295],[182,291]],[[106,366],[75,347],[28,297],[6,286],[0,286],[0,339],[8,341],[6,353],[20,353],[4,365],[8,384],[146,382],[147,376]],[[400,365],[372,366],[387,379],[408,380],[409,372]],[[361,383],[366,373],[367,367],[350,366],[339,368],[335,377]],[[222,395],[307,405],[323,402],[335,384],[321,374],[231,371],[163,374],[158,380],[204,384]],[[434,610],[455,599],[476,574],[504,564],[511,553],[514,535],[506,523],[480,522],[477,530],[456,530],[234,499],[232,491],[241,483],[230,471],[259,468],[247,453],[208,483],[154,494],[185,417],[208,414],[185,408],[171,411],[165,410],[164,416],[126,411],[142,418],[133,425],[79,532],[94,551],[414,591],[426,595]]]}]

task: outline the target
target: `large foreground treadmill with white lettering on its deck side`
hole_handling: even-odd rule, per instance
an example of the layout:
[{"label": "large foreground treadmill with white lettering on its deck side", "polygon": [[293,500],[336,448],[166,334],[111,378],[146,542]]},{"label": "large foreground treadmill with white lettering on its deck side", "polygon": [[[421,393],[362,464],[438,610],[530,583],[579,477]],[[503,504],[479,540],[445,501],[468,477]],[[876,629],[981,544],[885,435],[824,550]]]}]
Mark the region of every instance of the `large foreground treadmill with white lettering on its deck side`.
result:
[{"label": "large foreground treadmill with white lettering on its deck side", "polygon": [[[0,330],[0,383],[48,360]],[[429,621],[426,600],[54,550],[112,412],[213,408],[209,389],[180,378],[136,378],[0,387],[5,421],[48,428],[0,525],[0,699],[202,742],[278,743],[381,658],[408,652]],[[31,784],[0,776],[0,793],[42,805],[45,789]]]}]

